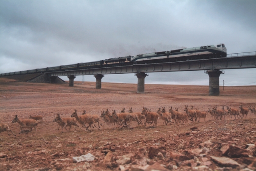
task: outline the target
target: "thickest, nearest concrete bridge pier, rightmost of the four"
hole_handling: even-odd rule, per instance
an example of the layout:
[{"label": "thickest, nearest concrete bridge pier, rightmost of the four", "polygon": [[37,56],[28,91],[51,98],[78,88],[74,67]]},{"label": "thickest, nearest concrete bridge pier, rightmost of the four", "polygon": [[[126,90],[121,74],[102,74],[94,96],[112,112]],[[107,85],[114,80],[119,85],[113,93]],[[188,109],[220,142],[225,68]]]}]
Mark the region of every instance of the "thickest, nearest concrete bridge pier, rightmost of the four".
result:
[{"label": "thickest, nearest concrete bridge pier, rightmost of the four", "polygon": [[219,70],[207,70],[209,75],[209,96],[220,96],[220,74]]}]

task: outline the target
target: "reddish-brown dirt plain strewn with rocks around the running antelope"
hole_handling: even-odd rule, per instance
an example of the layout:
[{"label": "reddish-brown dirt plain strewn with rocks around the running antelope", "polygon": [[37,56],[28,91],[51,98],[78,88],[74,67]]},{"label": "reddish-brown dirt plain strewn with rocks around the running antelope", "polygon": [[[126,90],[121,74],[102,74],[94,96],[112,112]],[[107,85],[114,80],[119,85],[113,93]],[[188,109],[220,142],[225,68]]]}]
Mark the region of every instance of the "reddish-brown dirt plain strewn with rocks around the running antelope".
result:
[{"label": "reddish-brown dirt plain strewn with rocks around the running antelope", "polygon": [[[256,86],[220,87],[220,96],[208,95],[208,86],[145,85],[145,94],[137,94],[136,84],[75,82],[68,84],[22,83],[0,78],[0,123],[6,123],[16,134],[0,133],[0,170],[255,170],[256,116],[244,119],[215,120],[207,113],[200,122],[168,124],[158,119],[157,126],[139,125],[116,128],[103,126],[91,132],[58,129],[53,122],[56,114],[70,117],[76,109],[78,115],[97,114],[107,108],[120,112],[141,112],[143,107],[156,112],[159,107],[172,106],[184,112],[185,105],[201,111],[211,106],[228,105],[239,109],[256,105]],[[12,123],[14,116],[28,119],[42,115],[37,132],[19,134],[19,124]],[[248,145],[249,144],[249,145]],[[227,147],[228,151],[224,151]],[[250,148],[248,146],[253,146]],[[233,150],[233,151],[232,151]],[[234,154],[234,153],[238,154]],[[91,153],[93,161],[75,163],[72,157]],[[127,155],[129,154],[128,160]],[[131,157],[132,156],[132,157]],[[226,157],[222,162],[214,157]],[[235,163],[237,162],[237,163]],[[234,164],[235,163],[235,164]]]}]

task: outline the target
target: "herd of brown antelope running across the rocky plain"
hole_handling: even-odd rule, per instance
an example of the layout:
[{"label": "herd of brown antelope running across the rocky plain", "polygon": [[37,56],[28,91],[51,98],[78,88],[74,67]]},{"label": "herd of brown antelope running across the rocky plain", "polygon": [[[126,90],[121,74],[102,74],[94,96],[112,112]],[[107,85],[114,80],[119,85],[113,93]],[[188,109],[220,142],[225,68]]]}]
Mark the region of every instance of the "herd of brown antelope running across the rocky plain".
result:
[{"label": "herd of brown antelope running across the rocky plain", "polygon": [[[251,112],[251,114],[256,115],[256,109],[255,106],[248,106],[248,108],[243,107],[242,105],[239,105],[239,110],[230,108],[228,106],[222,106],[221,109],[217,109],[217,106],[213,106],[211,108],[208,108],[207,112],[210,113],[211,117],[214,119],[224,119],[228,116],[235,117],[235,119],[243,119],[244,117],[248,115],[248,112]],[[149,109],[143,107],[142,112],[133,112],[132,108],[129,108],[128,112],[125,112],[125,108],[122,108],[120,113],[117,113],[116,110],[112,110],[112,112],[109,111],[109,109],[103,110],[101,112],[101,115],[91,115],[86,114],[86,110],[83,110],[83,113],[78,116],[77,110],[75,110],[71,117],[63,118],[59,114],[57,114],[56,118],[53,120],[53,122],[58,123],[59,128],[61,127],[61,131],[63,132],[63,128],[67,130],[66,127],[78,127],[80,130],[81,127],[79,124],[82,125],[82,127],[85,127],[86,130],[92,130],[92,128],[96,127],[97,129],[100,129],[101,119],[109,126],[110,124],[114,124],[114,127],[129,127],[132,123],[132,121],[136,121],[139,125],[146,126],[146,123],[153,124],[153,127],[157,125],[157,120],[160,118],[164,121],[164,125],[167,124],[178,124],[179,122],[187,123],[189,120],[194,121],[200,121],[201,118],[206,119],[206,113],[205,111],[200,111],[198,108],[193,109],[193,106],[186,105],[184,108],[184,112],[178,111],[178,108],[173,109],[173,107],[169,108],[169,111],[167,112],[165,107],[158,108],[156,112],[151,112]],[[236,118],[237,116],[237,118]],[[28,128],[32,131],[32,128],[36,130],[36,127],[38,125],[38,120],[42,121],[42,116],[30,116],[29,119],[19,119],[16,115],[13,119],[13,123],[17,122],[20,126],[20,132],[28,132],[29,130],[23,130],[24,128]],[[86,126],[88,124],[88,126]],[[95,125],[97,124],[97,126]],[[69,130],[70,130],[69,128]],[[67,130],[67,131],[69,131]],[[16,136],[12,130],[8,127],[7,124],[0,124],[0,132],[7,131],[8,135],[9,131]]]}]

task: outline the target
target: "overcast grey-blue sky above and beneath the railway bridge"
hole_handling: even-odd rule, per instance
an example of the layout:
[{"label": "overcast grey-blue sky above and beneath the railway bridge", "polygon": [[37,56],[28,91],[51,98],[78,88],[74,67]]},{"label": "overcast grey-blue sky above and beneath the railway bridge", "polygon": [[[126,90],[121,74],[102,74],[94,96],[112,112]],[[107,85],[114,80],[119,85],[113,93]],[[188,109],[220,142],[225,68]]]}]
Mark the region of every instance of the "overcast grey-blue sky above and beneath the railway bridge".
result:
[{"label": "overcast grey-blue sky above and beneath the railway bridge", "polygon": [[[256,0],[0,0],[0,73],[218,43],[228,54],[254,52],[255,7]],[[225,70],[223,80],[256,85],[256,69]],[[102,82],[137,77],[110,74]],[[145,83],[209,85],[209,76],[149,73]]]}]

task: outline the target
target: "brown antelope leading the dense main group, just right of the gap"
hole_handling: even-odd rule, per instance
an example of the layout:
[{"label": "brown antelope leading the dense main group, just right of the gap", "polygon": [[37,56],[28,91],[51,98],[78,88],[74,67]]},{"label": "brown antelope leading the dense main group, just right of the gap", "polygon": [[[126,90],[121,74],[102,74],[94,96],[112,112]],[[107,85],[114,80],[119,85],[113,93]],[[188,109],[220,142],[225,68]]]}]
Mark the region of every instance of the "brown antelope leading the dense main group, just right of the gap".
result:
[{"label": "brown antelope leading the dense main group, just right of the gap", "polygon": [[[75,129],[75,126],[76,126],[76,127],[78,127],[80,130],[82,130],[82,129],[79,127],[79,125],[77,124],[77,121],[76,121],[75,118],[61,118],[60,114],[57,114],[56,118],[53,119],[53,122],[58,123],[58,125],[59,125],[59,126],[58,126],[58,130],[59,130],[59,128],[61,127],[61,132],[63,132],[63,127],[65,128],[65,130],[67,130],[66,127],[70,127],[70,128],[71,128],[72,125],[74,125],[74,129]],[[76,129],[75,129],[75,130],[76,130]],[[70,131],[70,129],[67,130],[67,131]]]}]

